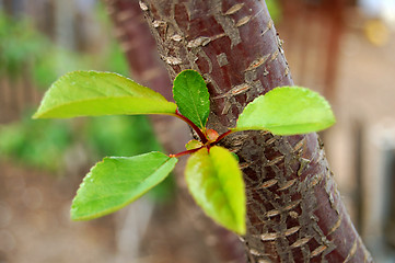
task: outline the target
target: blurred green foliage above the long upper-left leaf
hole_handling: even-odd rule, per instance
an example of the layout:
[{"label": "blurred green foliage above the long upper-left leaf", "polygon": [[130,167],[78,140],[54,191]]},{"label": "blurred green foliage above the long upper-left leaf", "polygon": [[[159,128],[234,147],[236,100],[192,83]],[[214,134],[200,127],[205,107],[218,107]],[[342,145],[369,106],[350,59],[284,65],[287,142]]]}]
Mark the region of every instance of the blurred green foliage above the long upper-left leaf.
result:
[{"label": "blurred green foliage above the long upper-left leaf", "polygon": [[[97,9],[100,16],[103,16]],[[100,19],[103,27],[109,21]],[[112,41],[97,54],[81,54],[54,44],[27,18],[10,18],[0,11],[0,76],[11,80],[27,72],[37,88],[47,89],[61,75],[82,69],[107,70],[127,76],[127,61],[119,45]]]}]

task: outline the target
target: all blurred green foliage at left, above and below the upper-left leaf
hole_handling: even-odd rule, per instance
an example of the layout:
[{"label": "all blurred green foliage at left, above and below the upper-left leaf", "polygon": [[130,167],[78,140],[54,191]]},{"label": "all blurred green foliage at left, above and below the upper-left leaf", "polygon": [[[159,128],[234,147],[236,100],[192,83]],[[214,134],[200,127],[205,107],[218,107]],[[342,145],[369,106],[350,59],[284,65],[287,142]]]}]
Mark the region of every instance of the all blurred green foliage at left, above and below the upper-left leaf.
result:
[{"label": "all blurred green foliage at left, above and below the upper-left leaf", "polygon": [[[96,19],[105,38],[111,37],[111,22],[102,4]],[[94,53],[77,53],[59,47],[33,26],[28,19],[9,18],[0,12],[0,77],[25,78],[35,87],[48,87],[61,75],[82,69],[129,75],[118,43],[112,39]],[[0,125],[0,158],[51,172],[61,171],[68,150],[82,144],[92,160],[105,156],[135,156],[161,150],[150,121],[146,116],[106,116],[75,121],[31,119],[26,112],[21,119]],[[75,128],[78,126],[78,128]],[[172,178],[156,187],[156,199],[171,196]]]}]

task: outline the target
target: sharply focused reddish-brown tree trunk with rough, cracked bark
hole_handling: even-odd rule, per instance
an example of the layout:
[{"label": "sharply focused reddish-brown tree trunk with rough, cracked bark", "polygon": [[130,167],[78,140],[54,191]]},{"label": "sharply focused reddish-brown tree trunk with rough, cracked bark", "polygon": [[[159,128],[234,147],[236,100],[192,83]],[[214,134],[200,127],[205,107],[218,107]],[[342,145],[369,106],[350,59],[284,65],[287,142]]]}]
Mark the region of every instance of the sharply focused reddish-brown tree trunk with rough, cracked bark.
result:
[{"label": "sharply focused reddish-brown tree trunk with rough, cracked bark", "polygon": [[[264,1],[140,1],[172,78],[205,77],[209,126],[235,125],[243,107],[292,84]],[[345,209],[316,134],[239,133],[223,141],[240,157],[247,194],[249,262],[372,262]]]}]

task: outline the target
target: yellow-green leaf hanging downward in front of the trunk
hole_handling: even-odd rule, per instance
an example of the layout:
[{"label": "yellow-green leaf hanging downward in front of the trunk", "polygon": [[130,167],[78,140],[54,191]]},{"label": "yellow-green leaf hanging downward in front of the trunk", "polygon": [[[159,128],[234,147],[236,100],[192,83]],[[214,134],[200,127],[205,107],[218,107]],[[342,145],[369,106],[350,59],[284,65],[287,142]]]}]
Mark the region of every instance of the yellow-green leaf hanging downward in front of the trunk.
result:
[{"label": "yellow-green leaf hanging downward in front of the trunk", "polygon": [[218,224],[245,233],[245,192],[237,161],[225,148],[214,146],[191,155],[186,182],[196,203]]}]

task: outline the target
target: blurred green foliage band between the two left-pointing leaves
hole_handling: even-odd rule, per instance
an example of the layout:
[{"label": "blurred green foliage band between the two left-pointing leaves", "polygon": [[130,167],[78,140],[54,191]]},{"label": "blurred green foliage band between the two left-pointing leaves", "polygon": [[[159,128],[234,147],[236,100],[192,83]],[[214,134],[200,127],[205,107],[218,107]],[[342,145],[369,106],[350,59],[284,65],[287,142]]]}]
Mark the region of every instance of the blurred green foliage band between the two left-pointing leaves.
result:
[{"label": "blurred green foliage band between the two left-pointing leaves", "polygon": [[84,145],[93,160],[161,150],[144,116],[85,118],[78,124],[78,130],[73,123],[72,119],[32,119],[31,114],[26,114],[18,122],[0,126],[0,156],[57,171],[61,169],[66,151],[77,141]]}]

